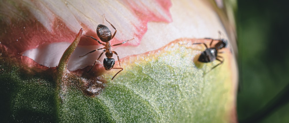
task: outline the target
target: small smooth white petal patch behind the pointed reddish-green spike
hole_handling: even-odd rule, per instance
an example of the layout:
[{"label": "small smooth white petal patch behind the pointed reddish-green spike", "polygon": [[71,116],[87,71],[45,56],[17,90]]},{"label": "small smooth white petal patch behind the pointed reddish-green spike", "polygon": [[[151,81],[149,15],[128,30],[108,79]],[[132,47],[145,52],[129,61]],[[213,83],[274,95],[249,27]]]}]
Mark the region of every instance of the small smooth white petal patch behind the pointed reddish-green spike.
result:
[{"label": "small smooth white petal patch behind the pointed reddish-green spike", "polygon": [[[64,51],[68,48],[71,43],[69,42],[55,42],[49,44],[42,44],[38,46],[36,49],[30,49],[24,51],[24,56],[27,56],[33,59],[35,62],[47,66],[47,67],[56,67],[62,57]],[[96,51],[94,53],[90,53],[84,57],[79,57],[85,55],[86,53],[99,48],[100,45],[93,46],[81,46],[78,45],[69,58],[68,61],[68,70],[74,71],[79,68],[85,68],[86,66],[90,66],[94,63],[94,61],[99,57],[100,51]],[[105,55],[103,55],[105,57]],[[103,59],[100,59],[100,61]],[[115,57],[116,58],[116,57]]]}]

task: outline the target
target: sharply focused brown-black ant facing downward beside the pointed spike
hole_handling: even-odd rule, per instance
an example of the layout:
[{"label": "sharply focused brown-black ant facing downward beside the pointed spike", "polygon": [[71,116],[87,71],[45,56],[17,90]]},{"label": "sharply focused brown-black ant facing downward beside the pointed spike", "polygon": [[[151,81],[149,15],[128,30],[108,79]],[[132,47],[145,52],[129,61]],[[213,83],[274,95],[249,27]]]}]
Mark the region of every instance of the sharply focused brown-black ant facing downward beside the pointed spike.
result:
[{"label": "sharply focused brown-black ant facing downward beside the pointed spike", "polygon": [[[104,16],[104,18],[105,18],[105,16]],[[108,23],[110,23],[106,18],[105,18],[105,20],[106,20]],[[101,62],[99,61],[99,58],[100,58],[101,55],[105,52],[106,58],[103,59],[103,64],[101,64],[101,65],[105,68],[105,70],[121,69],[120,71],[118,71],[118,72],[112,77],[112,79],[113,79],[119,72],[121,72],[121,71],[123,70],[123,68],[121,68],[121,62],[119,61],[119,57],[118,57],[117,53],[116,53],[115,51],[112,51],[112,50],[111,50],[111,47],[112,47],[112,46],[118,46],[118,45],[124,44],[124,43],[126,43],[127,41],[129,41],[129,40],[126,40],[126,41],[124,41],[124,42],[122,42],[122,43],[119,43],[119,44],[110,45],[110,40],[112,40],[112,38],[113,38],[114,35],[116,34],[116,28],[115,28],[111,23],[110,23],[110,25],[115,29],[113,35],[112,35],[110,29],[109,29],[107,26],[105,26],[105,25],[99,24],[99,25],[97,26],[97,29],[96,29],[97,36],[99,37],[99,39],[100,39],[102,42],[105,42],[105,43],[99,42],[99,40],[97,40],[96,38],[93,38],[92,36],[86,36],[86,35],[84,35],[84,36],[90,37],[90,38],[92,38],[93,40],[96,40],[99,44],[102,44],[102,45],[104,46],[103,48],[95,49],[95,50],[89,52],[89,53],[92,53],[92,52],[94,52],[94,51],[99,51],[99,50],[101,50],[101,49],[104,49],[104,50],[102,51],[102,53],[99,55],[98,59],[95,60],[94,64],[93,64],[92,67],[90,68],[90,70],[92,70],[92,68],[94,67],[94,65],[95,65],[96,62],[99,62],[99,63],[101,64]],[[134,39],[134,38],[132,38],[132,39],[130,39],[130,40],[133,40],[133,39]],[[87,55],[87,54],[89,54],[89,53],[86,53],[85,55]],[[120,68],[114,68],[114,67],[113,67],[113,66],[114,66],[114,63],[115,63],[115,60],[112,58],[113,54],[115,54],[115,55],[117,56],[117,60],[118,60],[118,63],[119,63]],[[83,56],[85,56],[85,55],[83,55]],[[79,56],[79,57],[83,57],[83,56]],[[89,70],[88,72],[90,72],[90,70]],[[87,73],[88,73],[88,72],[87,72]],[[112,80],[112,79],[111,79],[111,80]]]}]

